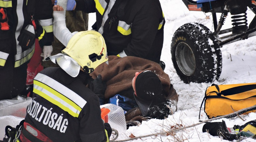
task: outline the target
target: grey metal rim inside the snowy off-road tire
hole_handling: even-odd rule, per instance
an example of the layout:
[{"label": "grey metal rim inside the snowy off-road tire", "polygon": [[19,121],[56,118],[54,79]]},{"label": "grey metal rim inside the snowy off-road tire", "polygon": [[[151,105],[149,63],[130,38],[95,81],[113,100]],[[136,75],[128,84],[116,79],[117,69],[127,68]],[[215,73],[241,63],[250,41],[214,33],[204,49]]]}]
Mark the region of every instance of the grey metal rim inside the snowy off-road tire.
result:
[{"label": "grey metal rim inside the snowy off-road tire", "polygon": [[179,43],[175,56],[181,72],[191,76],[195,72],[195,56],[190,46],[184,42]]}]

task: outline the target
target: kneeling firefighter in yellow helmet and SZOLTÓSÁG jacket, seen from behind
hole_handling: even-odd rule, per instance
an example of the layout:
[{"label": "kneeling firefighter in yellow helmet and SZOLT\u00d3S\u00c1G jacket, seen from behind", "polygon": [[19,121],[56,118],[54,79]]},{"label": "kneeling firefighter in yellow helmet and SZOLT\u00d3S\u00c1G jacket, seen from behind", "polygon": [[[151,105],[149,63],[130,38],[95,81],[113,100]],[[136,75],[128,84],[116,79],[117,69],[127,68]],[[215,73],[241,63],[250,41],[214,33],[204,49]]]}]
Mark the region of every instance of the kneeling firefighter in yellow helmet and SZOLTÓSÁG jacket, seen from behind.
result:
[{"label": "kneeling firefighter in yellow helmet and SZOLT\u00d3S\u00c1G jacket, seen from behind", "polygon": [[60,67],[46,68],[35,76],[33,100],[14,141],[108,142],[112,129],[100,116],[94,93],[98,91],[89,75],[108,61],[102,35],[78,32],[62,53],[49,58]]}]

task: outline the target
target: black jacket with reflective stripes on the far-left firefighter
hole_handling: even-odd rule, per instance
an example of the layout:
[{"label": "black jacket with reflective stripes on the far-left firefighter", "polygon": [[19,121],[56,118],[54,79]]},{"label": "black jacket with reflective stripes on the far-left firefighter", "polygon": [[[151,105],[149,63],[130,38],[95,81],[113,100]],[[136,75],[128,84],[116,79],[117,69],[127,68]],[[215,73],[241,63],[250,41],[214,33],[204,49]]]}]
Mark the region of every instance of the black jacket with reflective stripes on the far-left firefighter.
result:
[{"label": "black jacket with reflective stripes on the far-left firefighter", "polygon": [[45,45],[51,45],[53,40],[51,0],[0,0],[1,8],[7,13],[10,29],[7,31],[0,29],[0,68],[4,67],[9,55],[15,58],[14,67],[19,67],[32,57],[34,45],[32,48],[22,50],[17,40],[20,32],[30,23],[30,15],[34,15],[33,18],[38,20],[47,32],[49,39]]}]

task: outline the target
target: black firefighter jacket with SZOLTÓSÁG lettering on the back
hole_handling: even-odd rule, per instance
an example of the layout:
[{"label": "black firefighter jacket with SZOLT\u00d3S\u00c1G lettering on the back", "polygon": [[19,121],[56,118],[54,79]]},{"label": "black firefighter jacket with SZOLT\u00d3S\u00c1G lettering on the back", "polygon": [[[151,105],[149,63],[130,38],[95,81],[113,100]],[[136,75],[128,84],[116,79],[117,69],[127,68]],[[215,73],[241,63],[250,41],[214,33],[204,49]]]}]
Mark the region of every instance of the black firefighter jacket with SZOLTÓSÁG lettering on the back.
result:
[{"label": "black firefighter jacket with SZOLT\u00d3S\u00c1G lettering on the back", "polygon": [[59,67],[48,67],[34,78],[35,94],[25,122],[54,142],[106,142],[98,97],[86,87],[91,77],[73,78]]}]

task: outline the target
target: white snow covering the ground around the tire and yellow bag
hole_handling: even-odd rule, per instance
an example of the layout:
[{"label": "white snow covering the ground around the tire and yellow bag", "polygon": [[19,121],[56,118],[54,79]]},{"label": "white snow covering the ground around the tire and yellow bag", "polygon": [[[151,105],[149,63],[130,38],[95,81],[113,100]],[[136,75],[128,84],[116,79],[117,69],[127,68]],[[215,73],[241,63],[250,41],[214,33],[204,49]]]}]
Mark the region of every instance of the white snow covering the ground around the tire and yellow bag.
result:
[{"label": "white snow covering the ground around the tire and yellow bag", "polygon": [[[213,31],[212,16],[210,16],[209,19],[206,18],[206,16],[211,15],[211,13],[189,11],[182,0],[160,0],[160,2],[166,19],[161,60],[166,63],[166,69],[164,71],[170,76],[171,83],[179,94],[178,110],[173,115],[170,115],[167,119],[151,119],[149,121],[143,121],[140,126],[129,127],[125,133],[119,134],[117,140],[129,139],[131,134],[139,137],[152,133],[166,132],[171,130],[172,127],[178,128],[179,126],[187,127],[190,125],[196,125],[196,123],[199,123],[200,105],[204,97],[205,89],[208,86],[211,86],[212,83],[239,84],[256,82],[256,43],[255,37],[250,37],[245,40],[224,45],[221,48],[223,67],[220,79],[218,79],[218,81],[211,83],[183,83],[183,81],[181,81],[177,75],[171,61],[170,45],[172,36],[176,29],[189,22],[201,23]],[[254,15],[255,14],[251,10],[247,10],[248,23],[250,23]],[[217,17],[219,16],[220,13],[217,13]],[[89,27],[94,23],[94,21],[95,15],[89,14]],[[225,24],[223,25],[223,29],[230,28],[231,23],[229,13],[227,19],[225,20]],[[203,108],[201,110],[201,115],[200,120],[203,121],[208,119],[203,111]],[[223,118],[214,120],[214,122],[221,122],[224,120],[227,127],[233,127],[234,125],[243,125],[248,121],[254,120],[256,118],[256,114],[250,113],[248,115],[241,115],[241,117],[245,121],[239,117],[235,117],[230,119]],[[203,125],[204,124],[200,124],[188,129],[180,130],[168,136],[157,135],[132,140],[132,142],[228,142],[227,140],[222,140],[221,138],[214,137],[208,133],[203,133]],[[256,140],[247,138],[241,142],[253,141]]]}]

